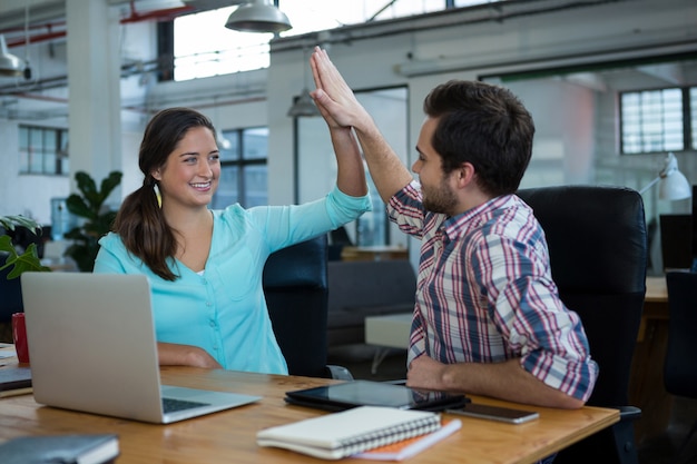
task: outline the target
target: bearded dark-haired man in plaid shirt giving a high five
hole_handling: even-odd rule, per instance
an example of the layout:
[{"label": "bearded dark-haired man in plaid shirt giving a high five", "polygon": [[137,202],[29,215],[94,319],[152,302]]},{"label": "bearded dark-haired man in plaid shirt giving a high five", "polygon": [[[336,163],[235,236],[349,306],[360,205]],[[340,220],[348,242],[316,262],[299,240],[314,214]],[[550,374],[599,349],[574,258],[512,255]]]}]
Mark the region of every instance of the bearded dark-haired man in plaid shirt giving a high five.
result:
[{"label": "bearded dark-haired man in plaid shirt giving a high five", "polygon": [[390,219],[422,243],[408,385],[581,407],[598,367],[559,299],[543,231],[514,195],[534,134],[523,105],[483,82],[433,89],[416,182],[326,51],[311,65],[330,131],[355,132]]}]

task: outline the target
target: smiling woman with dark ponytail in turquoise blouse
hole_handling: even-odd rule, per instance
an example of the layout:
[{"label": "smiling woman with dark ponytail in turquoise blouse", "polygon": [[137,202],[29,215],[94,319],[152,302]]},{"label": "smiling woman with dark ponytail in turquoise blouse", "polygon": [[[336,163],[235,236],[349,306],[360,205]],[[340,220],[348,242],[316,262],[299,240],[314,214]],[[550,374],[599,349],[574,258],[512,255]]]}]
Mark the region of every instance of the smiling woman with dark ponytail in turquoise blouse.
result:
[{"label": "smiling woman with dark ponytail in turquoise blouse", "polygon": [[99,241],[95,273],[148,276],[160,365],[287,374],[262,288],[266,258],[370,209],[351,131],[332,139],[347,150],[337,156],[336,187],[325,198],[212,210],[220,161],[210,120],[187,108],[150,120],[139,154],[143,187]]}]

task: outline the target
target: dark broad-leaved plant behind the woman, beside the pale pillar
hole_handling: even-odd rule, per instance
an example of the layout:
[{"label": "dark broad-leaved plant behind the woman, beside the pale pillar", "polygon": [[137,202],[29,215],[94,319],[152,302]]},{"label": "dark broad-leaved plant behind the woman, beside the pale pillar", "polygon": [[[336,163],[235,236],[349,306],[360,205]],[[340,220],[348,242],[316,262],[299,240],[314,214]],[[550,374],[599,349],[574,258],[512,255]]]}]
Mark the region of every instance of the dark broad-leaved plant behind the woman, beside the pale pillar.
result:
[{"label": "dark broad-leaved plant behind the woman, beside the pale pillar", "polygon": [[71,257],[82,273],[90,273],[94,269],[99,250],[98,241],[111,229],[116,211],[105,209],[104,206],[111,191],[121,182],[121,176],[119,171],[111,171],[97,189],[97,184],[87,172],[78,171],[75,175],[81,195],[70,195],[66,206],[70,213],[84,220],[66,234],[65,237],[72,243],[65,255]]}]

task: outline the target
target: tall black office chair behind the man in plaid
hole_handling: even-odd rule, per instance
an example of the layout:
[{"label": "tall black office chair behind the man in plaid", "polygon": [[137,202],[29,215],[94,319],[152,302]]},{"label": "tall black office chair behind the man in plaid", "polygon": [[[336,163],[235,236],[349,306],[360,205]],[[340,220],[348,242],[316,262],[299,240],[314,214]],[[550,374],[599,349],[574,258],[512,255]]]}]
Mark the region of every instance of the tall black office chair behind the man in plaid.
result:
[{"label": "tall black office chair behind the man in plaid", "polygon": [[647,234],[631,189],[560,186],[518,192],[547,236],[552,278],[579,314],[600,374],[588,405],[620,409],[620,422],[559,453],[554,463],[637,463],[628,406],[631,358],[646,294]]}]

